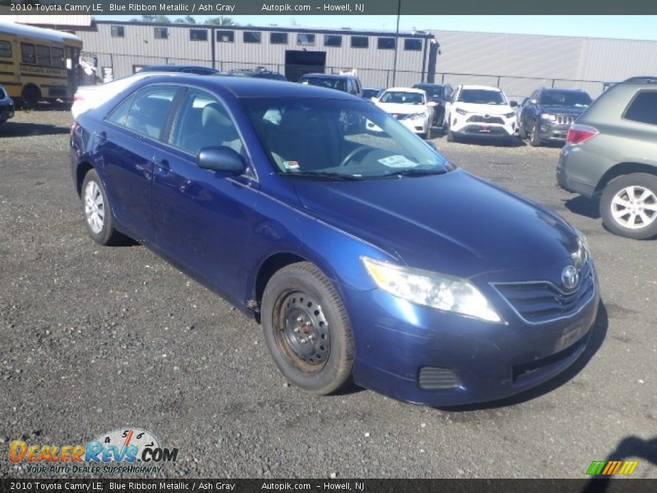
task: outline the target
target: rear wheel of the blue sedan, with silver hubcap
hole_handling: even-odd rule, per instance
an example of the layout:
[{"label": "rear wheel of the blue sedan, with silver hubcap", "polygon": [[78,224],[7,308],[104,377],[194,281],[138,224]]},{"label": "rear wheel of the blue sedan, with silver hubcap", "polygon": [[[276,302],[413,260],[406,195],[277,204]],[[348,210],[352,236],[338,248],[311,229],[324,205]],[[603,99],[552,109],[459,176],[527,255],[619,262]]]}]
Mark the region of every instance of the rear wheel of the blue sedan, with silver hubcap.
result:
[{"label": "rear wheel of the blue sedan, with silver hubcap", "polygon": [[81,199],[84,207],[84,223],[89,236],[101,245],[112,245],[123,236],[114,229],[112,207],[105,186],[96,170],[91,169],[82,181]]}]

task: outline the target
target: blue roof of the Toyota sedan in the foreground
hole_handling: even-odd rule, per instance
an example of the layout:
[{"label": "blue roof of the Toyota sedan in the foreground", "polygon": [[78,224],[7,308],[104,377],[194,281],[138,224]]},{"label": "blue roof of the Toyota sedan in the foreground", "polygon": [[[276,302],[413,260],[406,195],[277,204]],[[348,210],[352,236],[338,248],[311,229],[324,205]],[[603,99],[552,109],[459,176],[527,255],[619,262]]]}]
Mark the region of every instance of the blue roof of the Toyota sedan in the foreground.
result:
[{"label": "blue roof of the Toyota sedan in the foreground", "polygon": [[161,74],[149,77],[148,82],[140,84],[158,83],[189,84],[207,90],[224,89],[236,98],[259,98],[259,97],[318,97],[322,99],[348,99],[352,101],[363,101],[362,98],[335,89],[322,88],[307,84],[290,84],[288,81],[263,79],[260,77],[234,77],[231,75],[195,75],[187,73]]}]

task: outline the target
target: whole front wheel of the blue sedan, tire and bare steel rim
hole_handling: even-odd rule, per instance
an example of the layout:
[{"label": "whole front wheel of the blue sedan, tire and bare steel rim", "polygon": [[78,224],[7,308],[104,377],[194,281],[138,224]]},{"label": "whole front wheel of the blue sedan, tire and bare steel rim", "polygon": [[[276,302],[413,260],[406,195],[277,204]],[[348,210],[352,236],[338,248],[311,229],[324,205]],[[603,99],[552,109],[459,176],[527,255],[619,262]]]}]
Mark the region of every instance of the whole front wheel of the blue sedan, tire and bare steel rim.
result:
[{"label": "whole front wheel of the blue sedan, tire and bare steel rim", "polygon": [[272,276],[261,322],[272,359],[290,383],[326,395],[350,382],[354,338],[346,309],[313,264],[290,264]]}]

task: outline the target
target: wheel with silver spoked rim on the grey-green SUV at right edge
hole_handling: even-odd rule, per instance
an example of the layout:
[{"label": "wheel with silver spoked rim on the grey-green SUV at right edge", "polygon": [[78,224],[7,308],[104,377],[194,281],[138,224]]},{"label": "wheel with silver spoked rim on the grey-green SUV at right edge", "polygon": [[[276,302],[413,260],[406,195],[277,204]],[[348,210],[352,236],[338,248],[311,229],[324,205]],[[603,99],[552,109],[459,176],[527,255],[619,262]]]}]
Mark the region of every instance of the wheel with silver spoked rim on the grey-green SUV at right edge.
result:
[{"label": "wheel with silver spoked rim on the grey-green SUV at right edge", "polygon": [[657,236],[657,176],[632,173],[610,181],[600,197],[605,227],[619,236],[646,240]]}]

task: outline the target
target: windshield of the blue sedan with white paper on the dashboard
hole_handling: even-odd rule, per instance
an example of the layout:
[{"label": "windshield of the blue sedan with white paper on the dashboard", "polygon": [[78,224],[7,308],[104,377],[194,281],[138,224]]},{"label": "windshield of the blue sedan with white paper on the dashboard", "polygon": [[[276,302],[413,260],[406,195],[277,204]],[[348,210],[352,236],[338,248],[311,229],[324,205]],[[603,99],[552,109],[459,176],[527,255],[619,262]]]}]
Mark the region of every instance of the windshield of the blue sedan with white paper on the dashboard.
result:
[{"label": "windshield of the blue sedan with white paper on the dashboard", "polygon": [[364,100],[242,101],[263,148],[281,175],[376,179],[448,170],[444,157]]}]

